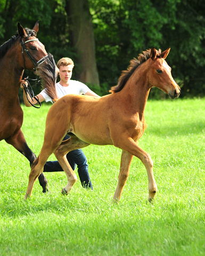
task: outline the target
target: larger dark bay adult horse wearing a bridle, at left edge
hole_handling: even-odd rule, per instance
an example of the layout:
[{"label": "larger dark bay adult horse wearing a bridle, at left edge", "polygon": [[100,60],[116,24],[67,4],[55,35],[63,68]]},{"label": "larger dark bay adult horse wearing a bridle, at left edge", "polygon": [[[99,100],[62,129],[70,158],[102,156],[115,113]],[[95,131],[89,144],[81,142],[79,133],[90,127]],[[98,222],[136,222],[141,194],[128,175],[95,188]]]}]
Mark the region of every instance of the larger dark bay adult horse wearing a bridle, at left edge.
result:
[{"label": "larger dark bay adult horse wearing a bridle, at left edge", "polygon": [[[38,21],[32,30],[24,29],[18,23],[18,34],[0,46],[0,140],[5,140],[26,156],[30,164],[36,156],[21,131],[23,111],[18,97],[23,70],[36,68],[36,74],[42,78],[44,86],[55,86],[55,62],[36,38],[37,32]],[[43,192],[46,192],[47,180],[43,173],[38,179]]]}]

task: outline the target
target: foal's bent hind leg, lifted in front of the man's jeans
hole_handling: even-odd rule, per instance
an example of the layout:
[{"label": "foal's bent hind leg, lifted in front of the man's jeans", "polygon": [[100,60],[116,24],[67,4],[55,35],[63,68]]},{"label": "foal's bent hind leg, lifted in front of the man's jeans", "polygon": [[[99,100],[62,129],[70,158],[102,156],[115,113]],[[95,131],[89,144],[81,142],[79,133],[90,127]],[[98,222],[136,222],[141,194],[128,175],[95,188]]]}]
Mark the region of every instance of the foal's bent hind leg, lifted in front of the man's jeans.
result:
[{"label": "foal's bent hind leg, lifted in front of the man's jeans", "polygon": [[65,174],[67,175],[67,179],[68,179],[67,185],[61,191],[62,194],[68,195],[73,185],[77,181],[77,176],[73,172],[66,158],[66,155],[71,150],[84,148],[87,146],[89,146],[89,143],[78,139],[75,135],[71,135],[71,137],[68,140],[63,141],[61,145],[55,150],[54,154],[58,159]]}]

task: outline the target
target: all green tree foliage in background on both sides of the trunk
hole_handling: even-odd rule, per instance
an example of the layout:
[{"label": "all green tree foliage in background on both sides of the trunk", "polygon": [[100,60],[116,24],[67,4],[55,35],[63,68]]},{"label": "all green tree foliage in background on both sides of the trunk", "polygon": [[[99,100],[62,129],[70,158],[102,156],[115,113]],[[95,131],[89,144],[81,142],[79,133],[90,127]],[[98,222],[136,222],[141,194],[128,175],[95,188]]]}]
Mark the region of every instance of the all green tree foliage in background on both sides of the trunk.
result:
[{"label": "all green tree foliage in background on both sides of the trunk", "polygon": [[[0,0],[0,43],[15,34],[18,21],[22,26],[32,28],[36,20],[40,20],[38,38],[55,60],[64,56],[77,60],[81,56],[73,47],[70,17],[66,10],[69,1]],[[173,77],[182,87],[182,95],[204,95],[203,0],[88,2],[101,86],[101,92],[97,93],[108,93],[110,87],[117,84],[121,71],[128,67],[129,61],[155,46],[162,50],[171,47],[167,62],[172,68]],[[75,15],[75,11],[70,10],[70,15]],[[77,76],[76,70],[78,65],[73,78]],[[157,96],[154,90],[152,96]]]}]

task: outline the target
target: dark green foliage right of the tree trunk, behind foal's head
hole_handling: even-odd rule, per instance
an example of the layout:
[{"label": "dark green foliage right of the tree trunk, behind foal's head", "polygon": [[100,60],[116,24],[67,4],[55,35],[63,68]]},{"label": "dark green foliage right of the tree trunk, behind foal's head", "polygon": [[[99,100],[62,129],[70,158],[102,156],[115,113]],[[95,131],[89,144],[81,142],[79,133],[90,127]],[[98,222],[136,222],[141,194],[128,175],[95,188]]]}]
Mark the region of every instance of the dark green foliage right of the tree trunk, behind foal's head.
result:
[{"label": "dark green foliage right of the tree trunk, behind foal's head", "polygon": [[[182,95],[203,95],[204,1],[91,0],[101,84],[117,83],[129,60],[171,47],[168,63]],[[108,75],[109,74],[109,75]]]}]

